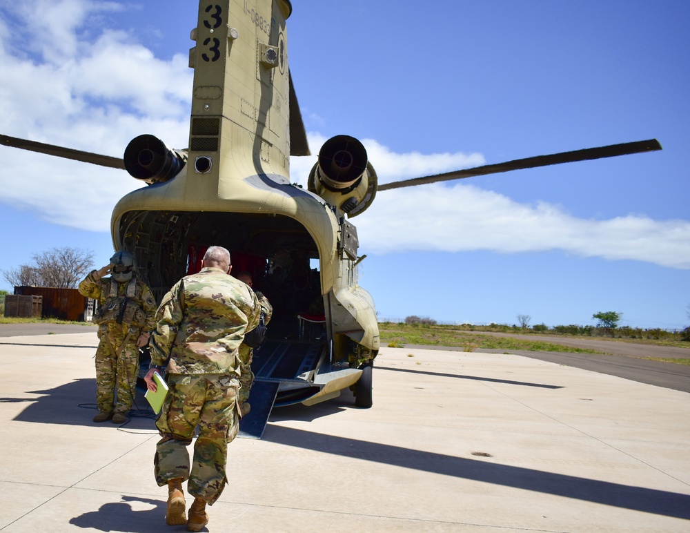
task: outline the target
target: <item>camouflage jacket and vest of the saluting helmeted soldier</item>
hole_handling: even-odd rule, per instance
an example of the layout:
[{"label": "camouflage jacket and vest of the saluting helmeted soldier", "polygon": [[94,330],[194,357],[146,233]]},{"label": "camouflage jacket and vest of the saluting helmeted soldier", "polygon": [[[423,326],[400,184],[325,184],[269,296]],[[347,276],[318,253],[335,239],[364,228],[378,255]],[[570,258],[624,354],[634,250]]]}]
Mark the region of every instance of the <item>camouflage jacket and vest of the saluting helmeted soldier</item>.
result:
[{"label": "camouflage jacket and vest of the saluting helmeted soldier", "polygon": [[[97,280],[91,271],[86,278],[79,283],[79,293],[86,298],[98,300],[99,309],[94,313],[94,322],[108,331],[126,333],[128,329],[133,331],[153,331],[156,327],[156,299],[143,281],[136,275],[126,282],[117,282],[112,278],[100,278]],[[124,312],[119,312],[117,306],[125,304]],[[109,312],[109,308],[115,308]],[[138,335],[139,333],[137,333]]]}]

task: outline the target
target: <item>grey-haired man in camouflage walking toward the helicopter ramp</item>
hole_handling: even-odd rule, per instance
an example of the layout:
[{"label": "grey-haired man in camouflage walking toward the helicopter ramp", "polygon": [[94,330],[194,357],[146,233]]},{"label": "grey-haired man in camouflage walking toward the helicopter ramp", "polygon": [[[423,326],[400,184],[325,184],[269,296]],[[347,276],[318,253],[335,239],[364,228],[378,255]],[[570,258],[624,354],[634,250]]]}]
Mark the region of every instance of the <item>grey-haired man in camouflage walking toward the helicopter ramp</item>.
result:
[{"label": "grey-haired man in camouflage walking toward the helicopter ramp", "polygon": [[[201,271],[175,284],[158,309],[151,339],[152,367],[144,378],[155,391],[153,374],[167,366],[170,387],[156,420],[161,434],[154,459],[159,486],[168,484],[168,525],[187,524],[201,531],[208,523],[206,503],[220,496],[226,483],[228,443],[239,429],[239,345],[245,331],[259,323],[256,295],[230,273],[230,253],[211,246]],[[191,463],[187,446],[199,436]],[[181,483],[195,496],[184,514]]]}]

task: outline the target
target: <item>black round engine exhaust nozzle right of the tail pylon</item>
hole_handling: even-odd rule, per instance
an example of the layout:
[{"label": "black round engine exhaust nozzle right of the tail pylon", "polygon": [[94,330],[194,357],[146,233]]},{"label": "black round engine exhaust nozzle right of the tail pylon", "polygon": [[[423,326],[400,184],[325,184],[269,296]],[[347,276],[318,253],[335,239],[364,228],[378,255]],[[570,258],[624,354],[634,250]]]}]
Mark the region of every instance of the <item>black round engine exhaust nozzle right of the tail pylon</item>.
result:
[{"label": "black round engine exhaust nozzle right of the tail pylon", "polygon": [[366,171],[366,149],[355,137],[336,135],[319,151],[318,180],[329,191],[353,188]]}]

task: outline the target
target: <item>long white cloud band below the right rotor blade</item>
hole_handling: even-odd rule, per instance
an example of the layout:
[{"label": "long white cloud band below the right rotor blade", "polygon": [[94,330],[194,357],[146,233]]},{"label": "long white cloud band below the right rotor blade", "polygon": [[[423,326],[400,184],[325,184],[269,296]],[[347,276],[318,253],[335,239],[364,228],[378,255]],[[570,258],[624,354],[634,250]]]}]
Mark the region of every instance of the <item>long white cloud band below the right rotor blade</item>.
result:
[{"label": "long white cloud band below the right rotor blade", "polygon": [[353,223],[365,253],[562,250],[690,269],[687,220],[581,219],[551,204],[520,204],[466,184],[384,191]]}]

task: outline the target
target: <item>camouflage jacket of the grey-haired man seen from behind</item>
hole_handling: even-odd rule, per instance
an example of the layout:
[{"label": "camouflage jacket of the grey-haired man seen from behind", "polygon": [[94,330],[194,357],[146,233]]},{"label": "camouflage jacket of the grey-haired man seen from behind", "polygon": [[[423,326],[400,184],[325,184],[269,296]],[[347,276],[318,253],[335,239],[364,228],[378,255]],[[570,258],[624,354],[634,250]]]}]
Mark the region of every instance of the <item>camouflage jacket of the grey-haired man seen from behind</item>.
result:
[{"label": "camouflage jacket of the grey-haired man seen from behind", "polygon": [[244,332],[259,323],[259,301],[220,269],[188,275],[163,297],[151,337],[151,362],[170,374],[235,374]]}]

